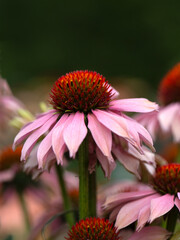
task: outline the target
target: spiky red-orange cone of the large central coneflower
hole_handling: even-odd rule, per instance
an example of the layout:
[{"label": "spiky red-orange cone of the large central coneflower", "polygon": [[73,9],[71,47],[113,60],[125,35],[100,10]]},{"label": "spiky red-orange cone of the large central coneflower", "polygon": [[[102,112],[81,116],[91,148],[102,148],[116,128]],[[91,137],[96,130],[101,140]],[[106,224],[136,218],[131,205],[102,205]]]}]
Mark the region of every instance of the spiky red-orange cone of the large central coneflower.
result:
[{"label": "spiky red-orange cone of the large central coneflower", "polygon": [[51,89],[50,103],[59,112],[84,112],[106,109],[112,88],[96,72],[75,71],[60,77]]}]

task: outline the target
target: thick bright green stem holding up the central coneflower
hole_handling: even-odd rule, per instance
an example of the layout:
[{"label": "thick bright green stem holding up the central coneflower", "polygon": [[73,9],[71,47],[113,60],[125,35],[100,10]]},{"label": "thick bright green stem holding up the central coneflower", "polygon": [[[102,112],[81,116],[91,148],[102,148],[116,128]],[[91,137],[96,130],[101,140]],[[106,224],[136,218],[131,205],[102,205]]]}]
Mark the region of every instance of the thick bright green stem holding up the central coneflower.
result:
[{"label": "thick bright green stem holding up the central coneflower", "polygon": [[79,158],[79,218],[89,217],[89,172],[88,172],[88,137],[78,151]]}]

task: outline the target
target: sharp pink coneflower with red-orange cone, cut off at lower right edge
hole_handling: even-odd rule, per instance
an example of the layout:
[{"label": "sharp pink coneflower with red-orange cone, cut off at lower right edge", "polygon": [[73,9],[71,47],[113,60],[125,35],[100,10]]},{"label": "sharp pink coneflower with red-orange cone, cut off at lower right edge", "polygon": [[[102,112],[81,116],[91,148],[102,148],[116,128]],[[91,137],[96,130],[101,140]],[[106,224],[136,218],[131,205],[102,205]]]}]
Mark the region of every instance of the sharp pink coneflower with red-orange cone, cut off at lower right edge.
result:
[{"label": "sharp pink coneflower with red-orange cone, cut off at lower right edge", "polygon": [[[144,185],[143,185],[144,186]],[[110,213],[110,221],[116,221],[118,229],[137,221],[137,230],[146,223],[165,215],[173,208],[180,210],[180,164],[158,167],[152,187],[132,185],[128,191],[109,196],[105,209]],[[173,216],[176,221],[175,214]]]}]

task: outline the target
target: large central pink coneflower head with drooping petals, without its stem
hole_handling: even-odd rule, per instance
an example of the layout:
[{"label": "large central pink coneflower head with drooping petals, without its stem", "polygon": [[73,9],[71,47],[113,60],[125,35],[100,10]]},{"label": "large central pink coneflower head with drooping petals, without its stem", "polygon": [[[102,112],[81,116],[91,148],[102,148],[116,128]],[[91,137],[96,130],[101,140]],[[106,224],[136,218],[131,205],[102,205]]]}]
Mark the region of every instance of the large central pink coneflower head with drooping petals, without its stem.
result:
[{"label": "large central pink coneflower head with drooping petals, without its stem", "polygon": [[98,148],[97,158],[103,169],[114,165],[114,136],[130,143],[143,154],[142,141],[152,147],[152,139],[145,128],[122,112],[151,112],[157,109],[157,105],[144,98],[114,100],[116,95],[117,92],[105,78],[96,72],[76,71],[60,77],[50,94],[53,109],[24,126],[14,140],[15,147],[27,139],[21,160],[28,158],[44,134],[47,135],[37,151],[39,168],[53,153],[60,164],[63,164],[66,151],[74,158],[88,132]]}]

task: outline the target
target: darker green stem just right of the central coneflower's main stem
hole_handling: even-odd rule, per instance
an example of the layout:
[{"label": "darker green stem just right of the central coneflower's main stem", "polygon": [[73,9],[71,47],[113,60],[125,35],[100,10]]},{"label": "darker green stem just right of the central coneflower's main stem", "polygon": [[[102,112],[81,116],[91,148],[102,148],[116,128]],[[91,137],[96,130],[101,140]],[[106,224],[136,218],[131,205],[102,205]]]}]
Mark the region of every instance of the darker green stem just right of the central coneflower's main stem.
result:
[{"label": "darker green stem just right of the central coneflower's main stem", "polygon": [[89,215],[96,217],[96,172],[89,174]]}]

